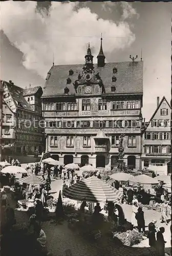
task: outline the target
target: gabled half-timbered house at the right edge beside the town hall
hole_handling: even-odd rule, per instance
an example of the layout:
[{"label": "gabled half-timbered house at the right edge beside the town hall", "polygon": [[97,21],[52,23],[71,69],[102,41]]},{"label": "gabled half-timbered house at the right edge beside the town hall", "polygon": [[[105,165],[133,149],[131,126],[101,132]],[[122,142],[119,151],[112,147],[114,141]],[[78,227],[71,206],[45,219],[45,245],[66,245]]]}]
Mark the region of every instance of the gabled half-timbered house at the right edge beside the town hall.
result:
[{"label": "gabled half-timbered house at the right edge beside the town hall", "polygon": [[171,159],[171,107],[166,98],[159,102],[157,109],[143,132],[142,168],[149,165],[168,165]]}]

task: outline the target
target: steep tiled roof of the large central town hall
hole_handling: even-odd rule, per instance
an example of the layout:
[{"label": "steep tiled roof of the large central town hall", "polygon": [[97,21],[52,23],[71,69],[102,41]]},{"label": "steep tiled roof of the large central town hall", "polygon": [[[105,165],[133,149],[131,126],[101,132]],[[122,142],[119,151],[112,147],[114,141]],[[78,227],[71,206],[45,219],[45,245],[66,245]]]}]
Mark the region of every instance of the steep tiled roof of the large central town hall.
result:
[{"label": "steep tiled roof of the large central town hall", "polygon": [[[79,73],[82,74],[82,67],[83,65],[52,66],[46,78],[42,97],[63,95],[68,77],[72,80],[67,86],[70,90],[69,95],[74,95],[73,82],[78,79]],[[113,74],[113,68],[117,68],[116,74]],[[70,69],[74,71],[71,76],[69,76]],[[97,67],[94,64],[94,70],[95,74],[99,72],[104,84],[105,94],[112,93],[112,86],[116,88],[115,94],[143,93],[143,61],[105,63],[104,67]],[[113,75],[117,78],[116,82],[112,82]]]}]

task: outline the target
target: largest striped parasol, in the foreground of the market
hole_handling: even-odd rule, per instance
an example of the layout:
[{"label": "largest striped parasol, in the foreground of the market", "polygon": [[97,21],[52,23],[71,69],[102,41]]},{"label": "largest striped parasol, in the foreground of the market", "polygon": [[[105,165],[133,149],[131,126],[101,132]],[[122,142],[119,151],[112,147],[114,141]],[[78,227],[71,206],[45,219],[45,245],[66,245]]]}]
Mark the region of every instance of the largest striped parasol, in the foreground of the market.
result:
[{"label": "largest striped parasol, in the foreground of the market", "polygon": [[95,176],[79,181],[63,190],[63,195],[73,200],[88,202],[116,201],[122,197],[121,191]]}]

